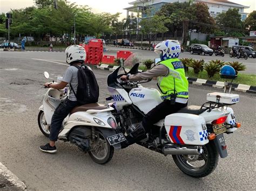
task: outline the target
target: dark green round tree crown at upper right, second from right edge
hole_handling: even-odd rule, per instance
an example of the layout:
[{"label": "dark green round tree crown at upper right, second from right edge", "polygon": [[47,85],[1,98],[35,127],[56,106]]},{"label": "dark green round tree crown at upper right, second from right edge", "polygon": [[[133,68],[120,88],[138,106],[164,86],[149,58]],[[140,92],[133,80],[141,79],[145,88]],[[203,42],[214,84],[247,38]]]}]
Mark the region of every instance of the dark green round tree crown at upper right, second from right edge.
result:
[{"label": "dark green round tree crown at upper right, second from right edge", "polygon": [[244,29],[241,15],[238,9],[228,9],[227,12],[220,13],[216,17],[216,23],[226,33]]}]

